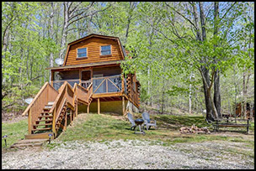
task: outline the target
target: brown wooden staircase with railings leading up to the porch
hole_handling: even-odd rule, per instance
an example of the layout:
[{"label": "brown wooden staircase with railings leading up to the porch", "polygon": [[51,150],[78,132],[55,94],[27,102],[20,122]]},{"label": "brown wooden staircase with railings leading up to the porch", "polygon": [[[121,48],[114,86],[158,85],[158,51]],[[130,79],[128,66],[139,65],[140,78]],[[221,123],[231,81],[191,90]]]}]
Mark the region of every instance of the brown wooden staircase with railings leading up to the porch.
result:
[{"label": "brown wooden staircase with railings leading up to the porch", "polygon": [[[56,91],[48,82],[41,88],[34,100],[29,104],[22,116],[28,114],[29,134],[26,139],[49,139],[67,129],[67,120],[73,121],[77,117],[77,105],[79,103],[90,104],[92,102],[92,85],[88,89],[77,83],[72,87],[64,82]],[[22,142],[24,143],[24,141]]]}]

